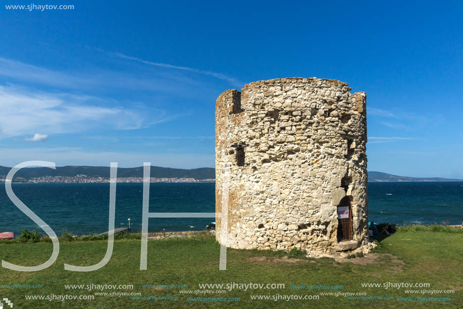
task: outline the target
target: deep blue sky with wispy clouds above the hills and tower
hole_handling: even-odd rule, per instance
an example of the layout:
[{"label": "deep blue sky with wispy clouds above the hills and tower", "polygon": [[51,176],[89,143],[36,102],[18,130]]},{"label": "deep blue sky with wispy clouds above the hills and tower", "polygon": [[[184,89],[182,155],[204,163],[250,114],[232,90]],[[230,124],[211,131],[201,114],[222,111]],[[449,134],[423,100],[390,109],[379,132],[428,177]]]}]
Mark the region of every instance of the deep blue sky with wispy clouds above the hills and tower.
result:
[{"label": "deep blue sky with wispy clouds above the hills and tower", "polygon": [[213,167],[219,94],[316,76],[367,93],[369,170],[463,178],[463,5],[325,3],[3,2],[0,165]]}]

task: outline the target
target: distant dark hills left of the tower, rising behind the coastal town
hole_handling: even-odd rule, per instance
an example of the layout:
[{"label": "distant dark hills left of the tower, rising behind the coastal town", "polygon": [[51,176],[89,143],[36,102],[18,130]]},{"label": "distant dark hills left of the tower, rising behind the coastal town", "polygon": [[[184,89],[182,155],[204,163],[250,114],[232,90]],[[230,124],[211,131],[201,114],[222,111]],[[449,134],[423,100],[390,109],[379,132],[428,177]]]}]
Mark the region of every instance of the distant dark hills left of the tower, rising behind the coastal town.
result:
[{"label": "distant dark hills left of the tower, rising behind the coastal town", "polygon": [[[6,178],[11,167],[0,166],[0,178]],[[108,166],[62,166],[52,169],[49,167],[26,167],[18,170],[14,179],[30,179],[41,176],[76,176],[87,175],[93,177],[110,178],[110,167]],[[140,167],[119,167],[118,177],[143,177],[143,166]],[[181,169],[151,166],[150,176],[152,178],[194,178],[214,179],[216,171],[214,168],[202,167],[194,169]]]}]

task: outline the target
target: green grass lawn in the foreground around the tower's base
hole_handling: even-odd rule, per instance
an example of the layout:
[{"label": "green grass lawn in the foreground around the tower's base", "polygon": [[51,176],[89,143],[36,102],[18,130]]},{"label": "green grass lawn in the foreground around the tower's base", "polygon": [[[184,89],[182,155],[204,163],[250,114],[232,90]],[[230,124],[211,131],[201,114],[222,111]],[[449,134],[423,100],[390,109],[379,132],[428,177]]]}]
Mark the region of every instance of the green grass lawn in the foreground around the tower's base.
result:
[{"label": "green grass lawn in the foreground around the tower's base", "polygon": [[[90,266],[104,257],[106,241],[60,243],[60,254],[53,266],[39,272],[15,272],[0,268],[1,285],[34,285],[41,288],[0,288],[0,299],[8,297],[13,308],[409,308],[463,307],[463,235],[431,231],[397,232],[381,240],[374,262],[370,256],[345,259],[288,259],[283,252],[228,249],[227,270],[219,271],[220,245],[208,237],[148,241],[147,270],[140,271],[140,240],[115,241],[113,256],[94,272],[70,272],[64,263]],[[34,266],[43,263],[52,252],[52,244],[0,243],[0,258],[11,263]],[[391,256],[393,255],[393,256]],[[355,262],[355,263],[352,263]],[[360,262],[360,263],[358,263]],[[198,290],[203,283],[283,283],[280,289],[233,289],[226,293],[183,294],[180,290]],[[406,293],[409,288],[362,287],[362,283],[429,283],[411,290],[455,290],[453,294]],[[133,285],[133,289],[104,291],[66,289],[65,285]],[[188,285],[188,288],[143,288],[142,285]],[[290,286],[325,285],[342,289],[320,291],[291,289]],[[212,289],[210,289],[212,290]],[[215,289],[216,290],[216,289]],[[94,292],[140,292],[140,296],[173,296],[177,299],[141,300],[132,296],[94,296],[93,300],[26,300],[25,295],[94,295]],[[394,299],[360,300],[345,296],[320,295],[326,292],[365,292],[369,297],[393,296]],[[312,300],[253,300],[251,295],[320,295]],[[188,301],[195,297],[236,297],[239,301]],[[450,301],[398,301],[397,297],[439,298]],[[6,308],[5,306],[4,308]]]}]

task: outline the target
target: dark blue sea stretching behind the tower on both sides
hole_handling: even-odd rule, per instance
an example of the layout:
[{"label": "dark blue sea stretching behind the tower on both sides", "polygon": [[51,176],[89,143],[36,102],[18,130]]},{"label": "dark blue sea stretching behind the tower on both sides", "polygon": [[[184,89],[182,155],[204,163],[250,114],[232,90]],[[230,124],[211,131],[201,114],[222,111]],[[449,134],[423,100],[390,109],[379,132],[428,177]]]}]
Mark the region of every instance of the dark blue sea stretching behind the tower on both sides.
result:
[{"label": "dark blue sea stretching behind the tower on both sides", "polygon": [[[109,184],[13,184],[18,198],[58,235],[108,230]],[[149,212],[214,212],[213,183],[150,184]],[[141,230],[142,184],[117,184],[115,227]],[[457,225],[463,220],[463,182],[369,183],[369,219],[375,223]],[[0,232],[38,226],[0,186]],[[215,218],[149,218],[148,231],[197,231]]]}]

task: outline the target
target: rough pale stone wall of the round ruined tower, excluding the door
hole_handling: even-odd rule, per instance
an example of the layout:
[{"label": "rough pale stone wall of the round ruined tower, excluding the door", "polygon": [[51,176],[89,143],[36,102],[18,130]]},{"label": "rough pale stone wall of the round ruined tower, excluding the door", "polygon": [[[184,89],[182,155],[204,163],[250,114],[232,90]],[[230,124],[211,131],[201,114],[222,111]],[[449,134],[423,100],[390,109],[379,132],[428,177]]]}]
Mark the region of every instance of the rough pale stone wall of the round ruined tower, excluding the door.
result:
[{"label": "rough pale stone wall of the round ruined tower, excluding the door", "polygon": [[[333,79],[278,78],[219,96],[216,212],[229,163],[228,247],[333,253],[367,244],[366,94],[350,90]],[[345,196],[353,240],[338,243]]]}]

